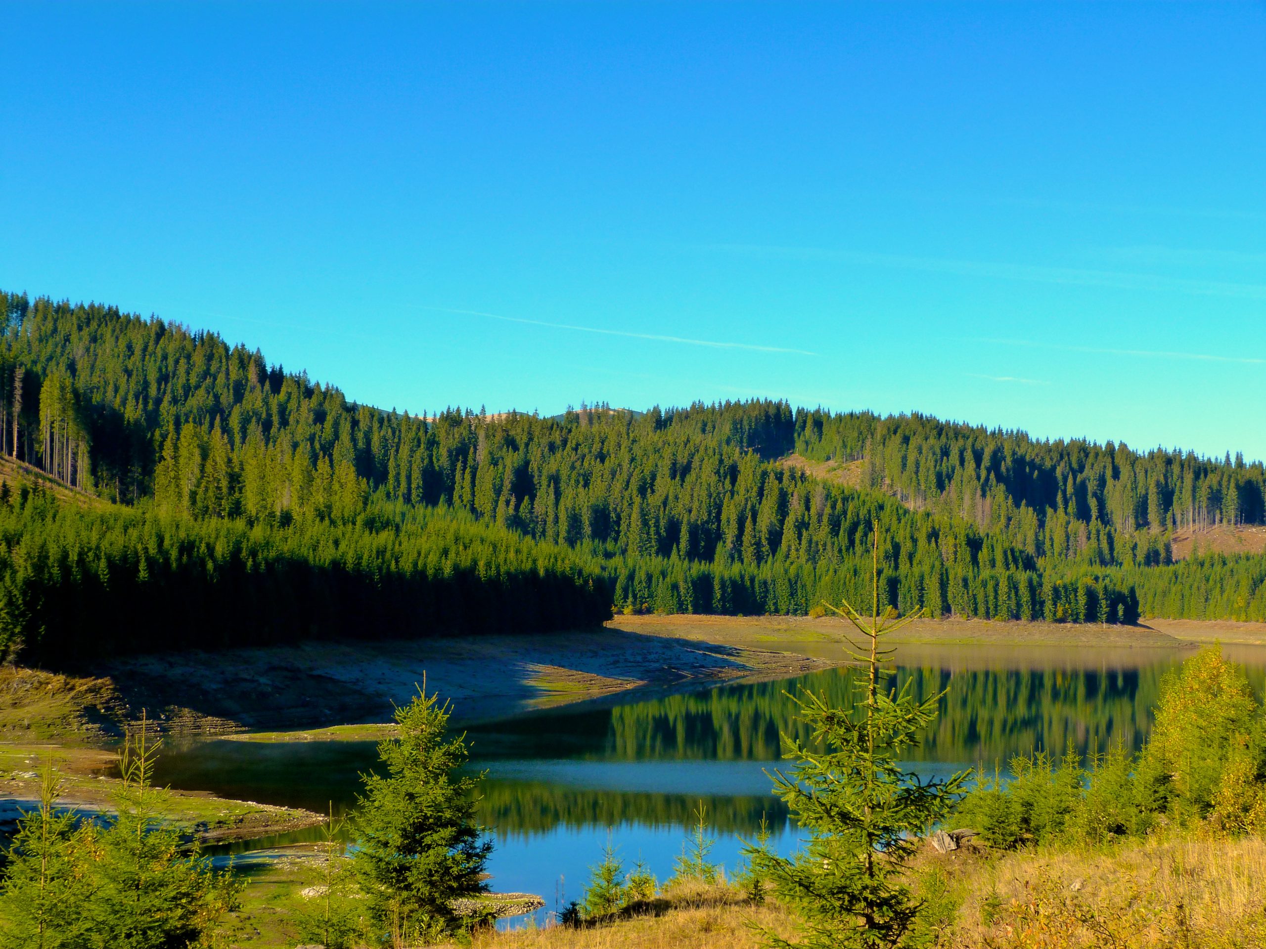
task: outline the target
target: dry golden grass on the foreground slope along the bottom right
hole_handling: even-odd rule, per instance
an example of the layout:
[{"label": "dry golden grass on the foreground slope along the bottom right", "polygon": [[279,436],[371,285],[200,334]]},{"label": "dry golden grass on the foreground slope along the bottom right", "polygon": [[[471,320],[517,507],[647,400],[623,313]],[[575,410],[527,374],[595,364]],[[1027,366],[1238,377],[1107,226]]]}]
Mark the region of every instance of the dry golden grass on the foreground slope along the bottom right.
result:
[{"label": "dry golden grass on the foreground slope along the bottom right", "polygon": [[[929,949],[1260,949],[1266,840],[1148,841],[1112,853],[966,849],[927,854],[917,876],[957,903]],[[927,893],[932,896],[932,893]],[[933,897],[934,898],[934,897]],[[476,949],[756,949],[751,924],[794,919],[727,887],[670,891],[608,924],[477,935]]]}]

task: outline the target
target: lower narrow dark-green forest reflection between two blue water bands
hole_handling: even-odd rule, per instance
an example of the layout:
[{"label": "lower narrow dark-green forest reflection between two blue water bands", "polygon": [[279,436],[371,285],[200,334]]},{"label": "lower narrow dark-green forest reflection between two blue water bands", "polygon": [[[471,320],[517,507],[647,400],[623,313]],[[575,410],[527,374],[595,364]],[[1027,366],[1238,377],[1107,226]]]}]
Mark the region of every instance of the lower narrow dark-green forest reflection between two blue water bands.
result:
[{"label": "lower narrow dark-green forest reflection between two blue water bands", "polygon": [[499,834],[532,834],[566,826],[614,828],[622,824],[689,826],[703,801],[708,822],[725,834],[751,834],[761,815],[781,828],[786,805],[776,797],[693,797],[627,791],[587,791],[547,782],[494,781],[480,787],[480,821]]}]

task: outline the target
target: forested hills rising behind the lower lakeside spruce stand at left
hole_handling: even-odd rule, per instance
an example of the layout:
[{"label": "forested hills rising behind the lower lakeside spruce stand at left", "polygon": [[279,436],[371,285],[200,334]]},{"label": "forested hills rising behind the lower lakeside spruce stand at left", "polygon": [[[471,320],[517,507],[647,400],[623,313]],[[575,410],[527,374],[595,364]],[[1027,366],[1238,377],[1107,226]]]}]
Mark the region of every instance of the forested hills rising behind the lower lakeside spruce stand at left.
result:
[{"label": "forested hills rising behind the lower lakeside spruce stand at left", "polygon": [[[1260,463],[772,401],[398,414],[215,334],[105,306],[0,306],[0,449],[170,530],[268,531],[303,559],[287,538],[352,545],[438,518],[499,549],[520,538],[532,547],[514,555],[617,609],[805,612],[868,605],[877,520],[893,605],[1266,619],[1266,558],[1170,566],[1176,528],[1262,521]],[[851,462],[862,483],[779,463],[791,453]],[[30,530],[10,530],[10,549]]]}]

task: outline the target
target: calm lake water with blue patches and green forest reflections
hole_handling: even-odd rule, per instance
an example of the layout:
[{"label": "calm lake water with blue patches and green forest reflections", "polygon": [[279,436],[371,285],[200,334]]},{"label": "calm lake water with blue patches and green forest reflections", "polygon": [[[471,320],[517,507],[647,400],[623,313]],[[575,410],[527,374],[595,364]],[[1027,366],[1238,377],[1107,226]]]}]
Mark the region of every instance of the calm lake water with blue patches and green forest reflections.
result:
[{"label": "calm lake water with blue patches and green forest reflections", "polygon": [[[770,648],[779,648],[776,643]],[[796,644],[804,649],[804,644]],[[839,647],[814,645],[823,654]],[[1261,692],[1266,649],[1228,647]],[[1137,748],[1166,672],[1189,649],[1060,647],[903,647],[896,685],[917,696],[946,691],[941,717],[912,757],[923,773],[985,766],[1005,768],[1015,754],[1082,754],[1123,741]],[[770,793],[765,771],[779,766],[780,733],[800,734],[786,692],[849,696],[848,668],[794,679],[724,685],[693,692],[633,693],[614,707],[571,706],[467,730],[473,764],[487,771],[480,815],[495,850],[489,869],[501,892],[542,895],[548,909],[579,898],[608,836],[627,862],[641,858],[671,876],[685,829],[700,802],[708,809],[728,869],[742,838],[761,816],[780,850],[796,829]],[[358,776],[373,767],[373,743],[254,744],[210,740],[168,747],[157,778],[227,797],[346,812]],[[234,845],[234,850],[311,839],[290,836]]]}]

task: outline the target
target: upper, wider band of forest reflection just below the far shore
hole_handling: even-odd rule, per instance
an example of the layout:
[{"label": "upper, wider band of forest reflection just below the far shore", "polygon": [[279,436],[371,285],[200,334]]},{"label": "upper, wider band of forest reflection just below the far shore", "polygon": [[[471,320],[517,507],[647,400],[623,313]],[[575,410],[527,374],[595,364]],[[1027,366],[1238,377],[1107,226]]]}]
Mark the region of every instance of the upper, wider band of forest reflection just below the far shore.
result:
[{"label": "upper, wider band of forest reflection just below the far shore", "polygon": [[[1155,657],[1153,657],[1155,658]],[[1138,666],[1104,668],[966,668],[905,666],[896,688],[909,683],[925,697],[946,690],[941,716],[912,760],[1004,764],[1034,748],[1062,752],[1071,741],[1082,753],[1103,750],[1109,741],[1137,748],[1151,728],[1152,707],[1166,672],[1179,655]],[[794,717],[786,692],[796,686],[824,692],[828,701],[846,704],[857,672],[829,669],[795,682],[720,686],[620,705],[601,711],[529,719],[518,723],[511,754],[530,754],[536,741],[552,741],[553,757],[613,760],[774,760],[780,757],[780,733],[806,735]],[[1262,669],[1251,669],[1258,690]],[[508,739],[504,730],[498,739]],[[491,736],[490,736],[491,738]],[[491,745],[476,739],[482,750]]]}]

